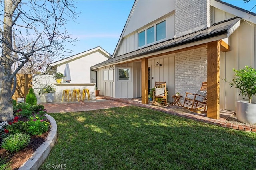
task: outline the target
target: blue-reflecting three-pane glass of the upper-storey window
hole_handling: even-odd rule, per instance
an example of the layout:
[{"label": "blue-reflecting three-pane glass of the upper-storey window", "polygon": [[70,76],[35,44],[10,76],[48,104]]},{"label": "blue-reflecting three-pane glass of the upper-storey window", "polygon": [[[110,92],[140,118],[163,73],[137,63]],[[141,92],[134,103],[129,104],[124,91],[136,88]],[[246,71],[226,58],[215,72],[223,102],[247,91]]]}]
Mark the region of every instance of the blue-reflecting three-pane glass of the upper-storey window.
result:
[{"label": "blue-reflecting three-pane glass of the upper-storey window", "polygon": [[139,47],[148,45],[166,38],[166,21],[157,23],[138,33]]}]

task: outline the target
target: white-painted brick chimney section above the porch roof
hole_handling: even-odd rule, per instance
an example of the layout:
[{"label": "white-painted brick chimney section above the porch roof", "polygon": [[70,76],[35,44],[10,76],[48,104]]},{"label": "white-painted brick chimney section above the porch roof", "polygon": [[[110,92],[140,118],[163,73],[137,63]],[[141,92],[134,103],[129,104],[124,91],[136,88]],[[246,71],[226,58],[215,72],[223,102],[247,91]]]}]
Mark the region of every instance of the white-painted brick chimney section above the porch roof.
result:
[{"label": "white-painted brick chimney section above the porch roof", "polygon": [[208,0],[176,0],[175,34],[180,34],[200,26],[207,26],[210,21]]}]

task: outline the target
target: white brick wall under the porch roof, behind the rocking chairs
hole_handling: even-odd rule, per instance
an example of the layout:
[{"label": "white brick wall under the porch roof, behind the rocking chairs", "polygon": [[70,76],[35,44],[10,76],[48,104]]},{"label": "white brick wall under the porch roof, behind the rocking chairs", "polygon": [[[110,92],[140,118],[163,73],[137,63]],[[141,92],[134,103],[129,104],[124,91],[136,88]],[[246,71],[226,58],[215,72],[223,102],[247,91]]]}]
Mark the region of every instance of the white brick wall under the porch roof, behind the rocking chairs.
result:
[{"label": "white brick wall under the porch roof, behind the rocking chairs", "polygon": [[207,81],[207,47],[176,53],[175,92],[180,92],[183,96],[182,102],[186,92],[196,93],[205,81]]}]

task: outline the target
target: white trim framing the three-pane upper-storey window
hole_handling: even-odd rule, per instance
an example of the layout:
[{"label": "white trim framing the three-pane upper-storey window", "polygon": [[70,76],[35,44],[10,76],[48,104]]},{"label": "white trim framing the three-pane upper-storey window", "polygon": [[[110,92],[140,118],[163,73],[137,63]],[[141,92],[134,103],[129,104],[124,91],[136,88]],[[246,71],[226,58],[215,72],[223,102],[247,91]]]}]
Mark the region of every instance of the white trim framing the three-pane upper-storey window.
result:
[{"label": "white trim framing the three-pane upper-storey window", "polygon": [[[163,21],[165,21],[165,38],[156,41],[156,33],[157,33],[157,32],[156,32],[156,25],[157,25],[158,23],[163,22]],[[137,41],[138,41],[138,45],[137,45],[137,46],[138,46],[138,49],[144,48],[144,47],[153,45],[154,43],[158,43],[158,42],[161,42],[161,41],[166,40],[167,37],[168,37],[168,35],[167,35],[167,33],[168,33],[167,25],[168,25],[168,23],[167,23],[167,18],[165,18],[165,19],[163,19],[163,20],[158,21],[157,23],[154,23],[154,24],[152,24],[152,25],[150,25],[150,26],[148,26],[148,27],[146,27],[146,28],[141,29],[140,31],[138,31],[138,32],[137,32],[137,35],[138,35],[138,39],[137,39]],[[154,26],[154,42],[147,44],[147,29],[150,28],[150,27],[153,27],[153,26]],[[139,33],[143,32],[143,31],[145,31],[145,45],[139,46]]]}]

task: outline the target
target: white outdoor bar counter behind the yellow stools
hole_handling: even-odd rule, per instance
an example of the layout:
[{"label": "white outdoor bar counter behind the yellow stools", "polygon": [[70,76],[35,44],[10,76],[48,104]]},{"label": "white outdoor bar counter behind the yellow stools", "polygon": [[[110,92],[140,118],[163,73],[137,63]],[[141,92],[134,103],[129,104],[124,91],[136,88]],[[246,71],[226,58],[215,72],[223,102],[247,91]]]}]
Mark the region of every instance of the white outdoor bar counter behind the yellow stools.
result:
[{"label": "white outdoor bar counter behind the yellow stools", "polygon": [[[56,92],[55,92],[55,101],[61,101],[62,100],[62,94],[63,90],[69,89],[71,92],[71,95],[73,93],[74,89],[79,89],[80,93],[82,94],[83,89],[89,89],[90,92],[90,99],[96,99],[95,98],[95,84],[96,83],[52,83],[55,85]],[[86,100],[87,100],[86,95]]]}]

